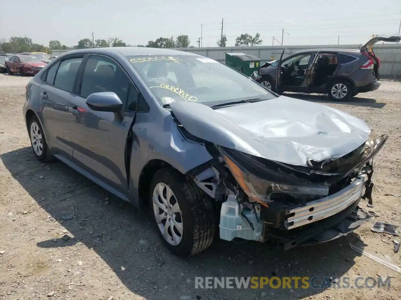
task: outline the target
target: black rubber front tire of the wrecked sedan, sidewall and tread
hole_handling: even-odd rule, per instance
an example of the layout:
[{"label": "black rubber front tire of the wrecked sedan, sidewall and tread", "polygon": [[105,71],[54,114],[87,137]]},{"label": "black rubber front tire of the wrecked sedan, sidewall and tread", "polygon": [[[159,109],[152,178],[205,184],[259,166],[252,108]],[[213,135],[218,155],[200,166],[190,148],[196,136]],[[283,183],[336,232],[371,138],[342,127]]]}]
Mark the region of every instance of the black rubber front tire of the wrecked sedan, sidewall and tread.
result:
[{"label": "black rubber front tire of the wrecked sedan, sidewall and tread", "polygon": [[[176,199],[180,212],[182,212],[182,236],[178,245],[172,245],[164,238],[156,221],[153,194],[155,187],[159,183],[167,185],[172,190],[175,196],[172,199],[173,201]],[[165,188],[163,189],[163,194],[164,192],[166,192]],[[160,202],[160,197],[158,201]],[[192,180],[188,180],[184,175],[172,168],[158,170],[150,184],[150,204],[156,230],[166,247],[176,256],[192,256],[211,246],[216,236],[217,227],[215,204],[213,199],[196,186]],[[158,211],[162,212],[163,210],[158,208]],[[169,213],[171,214],[170,210]],[[167,216],[166,214],[164,215]],[[169,217],[167,216],[166,218]]]}]

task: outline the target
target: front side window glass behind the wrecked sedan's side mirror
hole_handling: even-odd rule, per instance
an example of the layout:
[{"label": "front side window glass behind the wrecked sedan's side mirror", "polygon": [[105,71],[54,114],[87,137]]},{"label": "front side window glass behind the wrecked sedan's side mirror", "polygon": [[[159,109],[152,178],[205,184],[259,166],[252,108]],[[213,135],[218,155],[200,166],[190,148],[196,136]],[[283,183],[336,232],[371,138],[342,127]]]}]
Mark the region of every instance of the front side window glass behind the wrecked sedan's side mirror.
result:
[{"label": "front side window glass behind the wrecked sedan's side mirror", "polygon": [[104,56],[91,56],[82,77],[81,96],[99,92],[115,92],[124,107],[127,103],[130,80],[120,66]]}]

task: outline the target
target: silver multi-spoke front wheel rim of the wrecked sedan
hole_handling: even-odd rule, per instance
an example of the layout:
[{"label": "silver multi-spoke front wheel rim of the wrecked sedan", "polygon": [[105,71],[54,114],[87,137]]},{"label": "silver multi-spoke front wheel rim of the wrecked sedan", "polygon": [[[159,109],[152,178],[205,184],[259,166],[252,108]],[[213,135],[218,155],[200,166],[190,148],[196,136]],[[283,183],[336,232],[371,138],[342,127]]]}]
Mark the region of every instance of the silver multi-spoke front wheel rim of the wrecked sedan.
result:
[{"label": "silver multi-spoke front wheel rim of the wrecked sedan", "polygon": [[153,212],[164,239],[177,246],[182,240],[182,213],[170,186],[162,182],[153,190]]}]

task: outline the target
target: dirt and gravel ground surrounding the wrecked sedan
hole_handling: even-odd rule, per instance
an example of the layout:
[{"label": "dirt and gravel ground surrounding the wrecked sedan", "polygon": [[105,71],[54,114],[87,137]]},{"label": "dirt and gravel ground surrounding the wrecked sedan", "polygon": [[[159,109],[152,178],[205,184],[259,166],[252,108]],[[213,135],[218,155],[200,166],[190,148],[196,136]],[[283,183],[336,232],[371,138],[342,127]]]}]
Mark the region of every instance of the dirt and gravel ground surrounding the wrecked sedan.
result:
[{"label": "dirt and gravel ground surrounding the wrecked sedan", "polygon": [[[218,241],[182,260],[166,251],[147,214],[60,162],[36,161],[21,114],[28,80],[0,74],[0,299],[399,299],[401,274],[349,243],[401,266],[394,237],[370,230],[375,220],[401,225],[401,197],[385,196],[401,194],[401,82],[383,82],[354,102],[328,104],[363,118],[373,133],[390,134],[375,158],[380,191],[369,210],[379,217],[318,246],[282,252],[269,244]],[[393,277],[389,289],[194,289],[195,276],[272,274]]]}]

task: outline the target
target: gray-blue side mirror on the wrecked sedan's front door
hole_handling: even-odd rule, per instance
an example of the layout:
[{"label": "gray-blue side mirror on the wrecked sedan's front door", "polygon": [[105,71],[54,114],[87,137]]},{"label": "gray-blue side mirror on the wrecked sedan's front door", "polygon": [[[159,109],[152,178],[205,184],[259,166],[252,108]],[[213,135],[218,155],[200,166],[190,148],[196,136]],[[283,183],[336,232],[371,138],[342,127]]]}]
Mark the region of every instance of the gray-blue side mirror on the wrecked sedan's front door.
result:
[{"label": "gray-blue side mirror on the wrecked sedan's front door", "polygon": [[86,104],[97,112],[121,112],[123,102],[114,92],[93,93],[86,98]]}]

